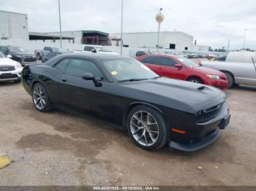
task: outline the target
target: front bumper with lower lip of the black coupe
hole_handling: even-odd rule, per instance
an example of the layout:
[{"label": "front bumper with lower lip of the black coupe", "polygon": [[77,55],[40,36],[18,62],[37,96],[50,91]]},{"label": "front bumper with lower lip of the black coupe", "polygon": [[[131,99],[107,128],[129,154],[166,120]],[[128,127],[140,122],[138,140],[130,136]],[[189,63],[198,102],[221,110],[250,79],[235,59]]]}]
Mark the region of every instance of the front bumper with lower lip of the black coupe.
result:
[{"label": "front bumper with lower lip of the black coupe", "polygon": [[[219,139],[224,130],[230,122],[230,110],[228,106],[222,109],[221,114],[212,120],[207,122],[197,123],[192,130],[187,135],[187,142],[178,141],[170,139],[169,147],[173,149],[178,149],[184,152],[195,152],[199,149],[203,149],[214,141]],[[181,138],[182,135],[176,135]],[[176,137],[175,136],[175,137]]]}]

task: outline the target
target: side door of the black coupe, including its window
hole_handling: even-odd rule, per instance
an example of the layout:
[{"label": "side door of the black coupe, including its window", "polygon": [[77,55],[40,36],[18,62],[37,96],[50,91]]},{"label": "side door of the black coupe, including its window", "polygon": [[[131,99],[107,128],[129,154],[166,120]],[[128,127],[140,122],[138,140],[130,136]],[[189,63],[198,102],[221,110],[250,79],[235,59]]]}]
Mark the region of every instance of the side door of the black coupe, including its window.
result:
[{"label": "side door of the black coupe, including its window", "polygon": [[[101,106],[107,101],[102,93],[102,86],[106,83],[105,77],[94,62],[78,58],[69,59],[65,74],[59,81],[61,104],[98,117],[101,115]],[[94,74],[102,86],[96,87],[93,81],[83,79],[85,73]]]}]

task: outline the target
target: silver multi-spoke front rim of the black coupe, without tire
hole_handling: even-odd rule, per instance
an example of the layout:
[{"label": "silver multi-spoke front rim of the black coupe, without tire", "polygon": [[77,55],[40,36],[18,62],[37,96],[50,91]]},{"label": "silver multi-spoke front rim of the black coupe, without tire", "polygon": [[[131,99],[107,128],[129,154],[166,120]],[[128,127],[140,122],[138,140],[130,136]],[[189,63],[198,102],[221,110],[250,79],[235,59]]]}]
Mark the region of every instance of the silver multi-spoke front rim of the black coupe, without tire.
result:
[{"label": "silver multi-spoke front rim of the black coupe, without tire", "polygon": [[152,114],[138,111],[132,115],[129,128],[133,138],[143,146],[151,146],[157,142],[159,126]]}]

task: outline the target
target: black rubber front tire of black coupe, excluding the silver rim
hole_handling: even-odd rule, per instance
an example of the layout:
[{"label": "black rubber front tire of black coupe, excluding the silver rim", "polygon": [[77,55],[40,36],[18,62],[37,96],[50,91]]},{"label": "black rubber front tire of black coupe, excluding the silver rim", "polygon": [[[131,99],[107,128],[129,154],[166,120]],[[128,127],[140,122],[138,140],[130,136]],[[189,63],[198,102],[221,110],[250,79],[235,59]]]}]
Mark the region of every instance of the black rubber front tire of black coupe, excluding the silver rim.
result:
[{"label": "black rubber front tire of black coupe, excluding the silver rim", "polygon": [[[132,132],[131,132],[131,129],[129,127],[129,122],[130,122],[130,120],[132,118],[132,115],[135,112],[138,112],[138,111],[148,112],[148,113],[150,113],[155,118],[155,120],[157,120],[158,127],[159,127],[159,136],[158,136],[157,142],[155,144],[151,145],[151,146],[141,145],[132,136]],[[160,149],[161,147],[163,147],[165,144],[167,144],[167,137],[168,137],[167,136],[167,124],[166,124],[166,122],[164,120],[164,117],[156,109],[153,109],[150,106],[144,106],[144,105],[136,106],[134,109],[132,109],[129,112],[128,117],[127,117],[127,130],[128,130],[129,136],[132,139],[132,141],[134,141],[135,144],[138,147],[142,148],[142,149],[157,150],[157,149]]]}]

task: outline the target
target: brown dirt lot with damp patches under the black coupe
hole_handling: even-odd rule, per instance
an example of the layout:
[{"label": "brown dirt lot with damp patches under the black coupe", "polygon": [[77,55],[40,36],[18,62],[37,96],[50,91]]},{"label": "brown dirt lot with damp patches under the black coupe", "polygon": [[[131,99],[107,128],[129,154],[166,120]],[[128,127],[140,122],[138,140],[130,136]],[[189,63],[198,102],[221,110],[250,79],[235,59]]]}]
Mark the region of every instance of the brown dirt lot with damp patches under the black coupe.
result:
[{"label": "brown dirt lot with damp patches under the black coupe", "polygon": [[22,85],[0,95],[0,152],[12,160],[0,185],[256,185],[256,87],[227,91],[229,127],[194,153],[146,152],[97,120],[39,113]]}]

